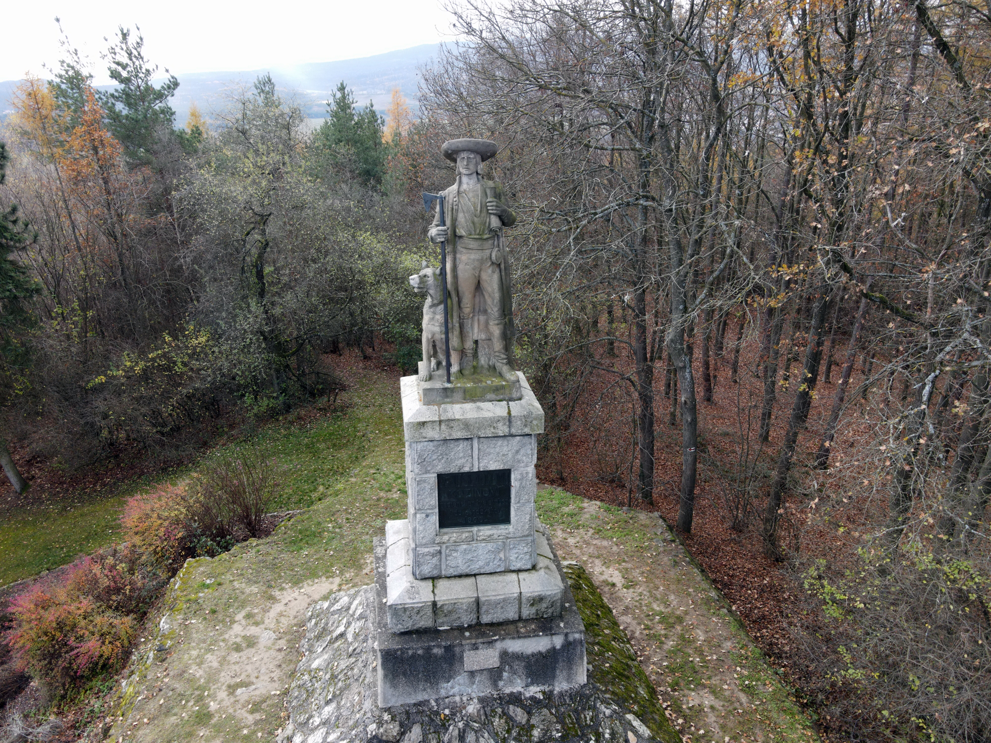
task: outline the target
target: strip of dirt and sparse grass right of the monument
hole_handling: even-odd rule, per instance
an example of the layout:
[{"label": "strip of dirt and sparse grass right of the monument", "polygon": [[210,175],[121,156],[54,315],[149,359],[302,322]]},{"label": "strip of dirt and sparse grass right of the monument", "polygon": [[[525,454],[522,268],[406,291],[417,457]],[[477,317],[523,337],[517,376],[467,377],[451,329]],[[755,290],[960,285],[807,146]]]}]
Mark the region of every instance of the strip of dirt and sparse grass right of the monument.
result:
[{"label": "strip of dirt and sparse grass right of the monument", "polygon": [[582,563],[686,740],[808,741],[813,725],[656,515],[541,487],[562,560]]}]

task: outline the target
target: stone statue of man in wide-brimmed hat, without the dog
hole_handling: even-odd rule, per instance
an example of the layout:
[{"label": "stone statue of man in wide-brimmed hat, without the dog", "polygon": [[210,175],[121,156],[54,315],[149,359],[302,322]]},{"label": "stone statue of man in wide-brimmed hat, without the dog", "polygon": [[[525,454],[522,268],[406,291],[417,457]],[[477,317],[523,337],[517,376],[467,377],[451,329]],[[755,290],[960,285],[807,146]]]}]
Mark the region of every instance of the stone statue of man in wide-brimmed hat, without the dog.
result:
[{"label": "stone statue of man in wide-brimmed hat, without the dog", "polygon": [[444,143],[441,154],[457,164],[458,177],[444,191],[445,226],[440,226],[438,210],[428,235],[448,246],[448,290],[460,317],[451,332],[452,368],[474,371],[475,342],[490,339],[495,371],[515,381],[512,294],[502,228],[515,224],[516,216],[505,204],[501,183],[481,175],[482,163],[497,150],[489,140]]}]

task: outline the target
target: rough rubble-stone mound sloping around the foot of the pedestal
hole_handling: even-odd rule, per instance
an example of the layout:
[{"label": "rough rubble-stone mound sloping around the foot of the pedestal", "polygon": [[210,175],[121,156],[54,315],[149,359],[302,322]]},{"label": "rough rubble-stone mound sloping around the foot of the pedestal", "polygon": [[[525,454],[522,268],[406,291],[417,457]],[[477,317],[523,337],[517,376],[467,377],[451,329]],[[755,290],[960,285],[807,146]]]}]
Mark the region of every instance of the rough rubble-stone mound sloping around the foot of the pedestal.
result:
[{"label": "rough rubble-stone mound sloping around the foot of the pedestal", "polygon": [[[576,594],[583,602],[588,586]],[[609,645],[607,655],[605,648],[590,646],[588,684],[448,696],[381,709],[370,622],[374,589],[333,594],[307,612],[303,657],[287,695],[289,722],[278,743],[679,743],[622,630],[596,597],[589,616],[597,622],[607,618]],[[587,613],[584,603],[582,611]],[[485,653],[469,659],[473,666],[492,662]],[[606,666],[612,674],[621,668],[627,684],[615,684],[612,676],[601,683],[599,669]]]}]

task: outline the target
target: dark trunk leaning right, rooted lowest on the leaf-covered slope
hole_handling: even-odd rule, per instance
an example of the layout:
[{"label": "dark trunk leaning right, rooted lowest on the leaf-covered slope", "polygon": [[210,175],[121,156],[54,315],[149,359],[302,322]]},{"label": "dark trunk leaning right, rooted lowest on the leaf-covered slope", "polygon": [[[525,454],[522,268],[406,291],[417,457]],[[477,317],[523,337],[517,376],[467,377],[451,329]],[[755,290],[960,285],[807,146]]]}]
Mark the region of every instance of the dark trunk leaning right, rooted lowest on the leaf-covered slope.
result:
[{"label": "dark trunk leaning right, rooted lowest on the leaf-covered slope", "polygon": [[823,356],[823,326],[829,310],[828,296],[820,294],[812,313],[812,326],[809,328],[809,342],[806,345],[805,364],[802,367],[802,383],[795,394],[792,405],[792,415],[788,420],[788,431],[781,445],[781,455],[778,459],[778,469],[774,474],[771,485],[771,495],[767,499],[764,511],[764,522],[761,525],[761,536],[764,538],[764,551],[768,557],[775,560],[782,558],[778,546],[778,525],[781,521],[781,504],[788,485],[788,475],[792,469],[792,459],[795,457],[795,445],[799,433],[809,418],[809,408],[812,405],[813,392],[816,390],[816,380],[819,378],[819,363]]}]

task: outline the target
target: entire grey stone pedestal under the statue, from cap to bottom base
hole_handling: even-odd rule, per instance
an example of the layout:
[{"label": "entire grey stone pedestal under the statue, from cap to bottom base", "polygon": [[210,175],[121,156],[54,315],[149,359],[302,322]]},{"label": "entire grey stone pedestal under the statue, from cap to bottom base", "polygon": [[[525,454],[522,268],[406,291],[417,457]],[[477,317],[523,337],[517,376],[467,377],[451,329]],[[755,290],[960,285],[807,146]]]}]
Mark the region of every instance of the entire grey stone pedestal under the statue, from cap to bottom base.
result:
[{"label": "entire grey stone pedestal under the statue, from cap to bottom base", "polygon": [[585,627],[534,510],[544,413],[515,384],[428,404],[436,384],[401,380],[408,518],[375,547],[382,706],[585,684]]}]

